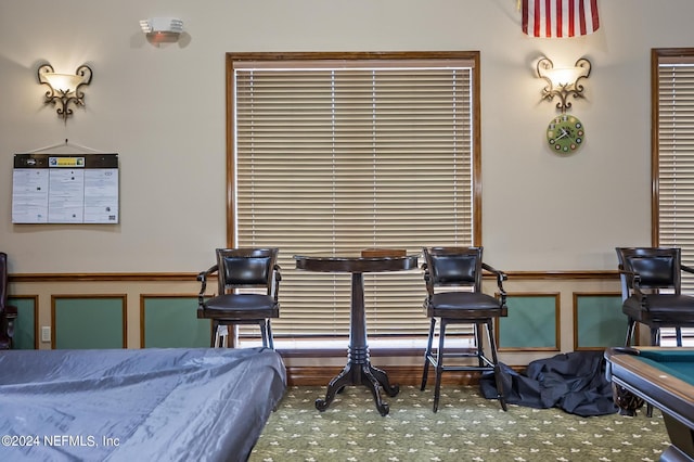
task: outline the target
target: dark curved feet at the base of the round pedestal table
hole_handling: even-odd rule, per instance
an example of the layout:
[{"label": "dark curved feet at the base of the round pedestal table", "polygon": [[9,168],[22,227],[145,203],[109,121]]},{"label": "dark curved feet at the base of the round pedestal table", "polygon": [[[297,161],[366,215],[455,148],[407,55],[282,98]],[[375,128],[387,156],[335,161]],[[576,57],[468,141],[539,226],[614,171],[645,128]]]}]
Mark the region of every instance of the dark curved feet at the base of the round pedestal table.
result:
[{"label": "dark curved feet at the base of the round pedestal table", "polygon": [[397,385],[390,386],[388,375],[381,369],[374,368],[370,362],[358,364],[350,361],[337,376],[330,381],[325,399],[317,399],[316,409],[321,412],[327,409],[330,403],[333,402],[333,399],[335,399],[335,395],[342,392],[347,385],[367,386],[373,395],[376,409],[378,409],[378,412],[383,416],[388,414],[389,409],[388,403],[381,399],[381,388],[383,387],[383,390],[389,397],[397,396],[400,392],[400,387]]}]

